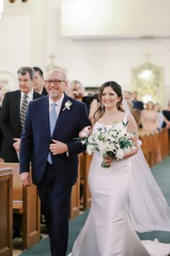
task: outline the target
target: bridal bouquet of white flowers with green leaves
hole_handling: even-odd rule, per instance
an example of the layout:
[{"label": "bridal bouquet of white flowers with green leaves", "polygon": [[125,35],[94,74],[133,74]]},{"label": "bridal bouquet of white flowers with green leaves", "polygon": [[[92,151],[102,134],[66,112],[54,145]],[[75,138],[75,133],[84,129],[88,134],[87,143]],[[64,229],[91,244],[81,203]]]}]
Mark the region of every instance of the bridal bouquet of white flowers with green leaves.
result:
[{"label": "bridal bouquet of white flowers with green leaves", "polygon": [[[99,152],[103,158],[110,155],[117,160],[122,159],[125,153],[130,152],[131,148],[135,148],[134,142],[131,140],[134,137],[133,132],[126,132],[125,129],[128,122],[126,124],[122,122],[122,124],[123,128],[121,129],[115,124],[110,129],[99,127],[97,131],[91,132],[89,137],[84,132],[84,137],[80,139],[81,144],[86,145],[89,155]],[[102,167],[109,168],[110,164],[103,160]]]}]

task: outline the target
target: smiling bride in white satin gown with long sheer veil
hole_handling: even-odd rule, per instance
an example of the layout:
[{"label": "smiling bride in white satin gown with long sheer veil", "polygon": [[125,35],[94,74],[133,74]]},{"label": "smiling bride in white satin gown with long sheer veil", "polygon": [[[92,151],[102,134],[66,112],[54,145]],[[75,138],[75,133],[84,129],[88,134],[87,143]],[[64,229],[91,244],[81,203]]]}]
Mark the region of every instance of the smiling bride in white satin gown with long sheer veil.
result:
[{"label": "smiling bride in white satin gown with long sheer veil", "polygon": [[[89,171],[91,210],[69,256],[169,255],[170,244],[141,242],[135,233],[135,230],[170,231],[170,209],[138,150],[138,127],[133,116],[122,107],[120,85],[105,82],[99,90],[99,101],[93,132],[99,127],[110,129],[113,123],[122,129],[122,122],[128,122],[127,132],[134,133],[135,148],[120,161],[110,156],[104,158],[109,168],[102,168],[103,158],[94,153]],[[80,137],[83,133],[84,130]],[[151,191],[147,190],[149,186]]]}]

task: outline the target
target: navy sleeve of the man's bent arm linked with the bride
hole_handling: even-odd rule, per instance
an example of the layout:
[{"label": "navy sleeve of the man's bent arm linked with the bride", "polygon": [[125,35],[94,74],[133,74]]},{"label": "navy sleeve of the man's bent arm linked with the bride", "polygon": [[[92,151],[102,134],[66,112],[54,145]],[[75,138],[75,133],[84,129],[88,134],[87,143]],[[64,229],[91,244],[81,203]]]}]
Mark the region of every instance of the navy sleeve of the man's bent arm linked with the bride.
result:
[{"label": "navy sleeve of the man's bent arm linked with the bride", "polygon": [[[79,122],[79,132],[81,132],[84,127],[91,125],[91,122],[89,121],[89,118],[87,116],[86,106],[85,104],[82,104],[81,111],[79,112],[78,116],[78,122]],[[77,135],[79,137],[79,133]],[[81,152],[84,152],[86,150],[86,146],[82,145],[81,143],[77,143],[75,140],[72,140],[71,142],[67,143],[68,146],[68,158],[75,157]]]}]

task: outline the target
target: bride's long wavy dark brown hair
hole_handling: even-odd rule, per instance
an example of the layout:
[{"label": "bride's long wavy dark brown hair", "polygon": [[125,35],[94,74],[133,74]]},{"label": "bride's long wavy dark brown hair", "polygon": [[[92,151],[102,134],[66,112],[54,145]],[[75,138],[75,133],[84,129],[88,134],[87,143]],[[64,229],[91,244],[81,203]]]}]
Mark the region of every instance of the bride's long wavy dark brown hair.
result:
[{"label": "bride's long wavy dark brown hair", "polygon": [[117,102],[117,109],[122,112],[125,112],[124,109],[122,108],[122,88],[121,88],[121,86],[118,85],[117,82],[114,82],[114,81],[104,82],[104,84],[102,84],[102,86],[99,88],[99,107],[97,108],[97,111],[94,113],[93,122],[97,121],[104,114],[105,108],[102,104],[102,93],[104,91],[104,88],[106,88],[106,87],[111,87],[112,90],[114,90],[115,93],[117,93],[117,96],[120,97],[120,101]]}]

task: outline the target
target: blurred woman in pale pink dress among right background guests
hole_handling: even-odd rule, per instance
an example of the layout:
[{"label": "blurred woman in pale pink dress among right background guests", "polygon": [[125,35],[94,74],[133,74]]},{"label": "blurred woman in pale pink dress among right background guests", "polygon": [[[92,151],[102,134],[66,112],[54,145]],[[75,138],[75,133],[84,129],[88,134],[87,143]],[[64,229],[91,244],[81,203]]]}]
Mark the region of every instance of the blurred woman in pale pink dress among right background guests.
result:
[{"label": "blurred woman in pale pink dress among right background guests", "polygon": [[152,101],[148,101],[146,109],[141,111],[141,124],[145,132],[156,132],[158,128],[158,112],[154,110]]}]

